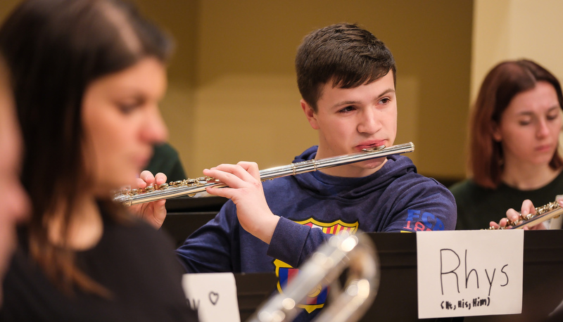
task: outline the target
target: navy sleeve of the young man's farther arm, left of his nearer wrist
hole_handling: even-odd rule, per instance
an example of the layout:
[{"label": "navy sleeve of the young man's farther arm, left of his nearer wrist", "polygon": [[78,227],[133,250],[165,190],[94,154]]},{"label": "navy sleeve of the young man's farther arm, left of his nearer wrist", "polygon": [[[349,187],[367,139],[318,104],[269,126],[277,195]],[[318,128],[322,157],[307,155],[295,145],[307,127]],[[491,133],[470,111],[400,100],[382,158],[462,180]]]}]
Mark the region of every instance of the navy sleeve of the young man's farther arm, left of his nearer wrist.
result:
[{"label": "navy sleeve of the young man's farther arm, left of his nearer wrist", "polygon": [[176,250],[187,272],[240,271],[240,250],[232,246],[240,229],[235,210],[229,200],[215,219],[198,228]]}]

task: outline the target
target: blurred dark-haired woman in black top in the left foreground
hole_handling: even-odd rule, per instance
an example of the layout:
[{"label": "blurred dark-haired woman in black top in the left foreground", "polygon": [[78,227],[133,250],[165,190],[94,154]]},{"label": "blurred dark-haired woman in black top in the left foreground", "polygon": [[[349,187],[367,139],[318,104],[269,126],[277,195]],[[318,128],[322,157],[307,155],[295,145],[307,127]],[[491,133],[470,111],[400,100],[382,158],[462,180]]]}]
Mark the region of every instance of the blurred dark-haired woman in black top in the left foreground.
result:
[{"label": "blurred dark-haired woman in black top in the left foreground", "polygon": [[27,0],[1,27],[0,51],[32,205],[0,321],[196,320],[170,240],[112,200],[166,139],[170,40],[119,0]]}]

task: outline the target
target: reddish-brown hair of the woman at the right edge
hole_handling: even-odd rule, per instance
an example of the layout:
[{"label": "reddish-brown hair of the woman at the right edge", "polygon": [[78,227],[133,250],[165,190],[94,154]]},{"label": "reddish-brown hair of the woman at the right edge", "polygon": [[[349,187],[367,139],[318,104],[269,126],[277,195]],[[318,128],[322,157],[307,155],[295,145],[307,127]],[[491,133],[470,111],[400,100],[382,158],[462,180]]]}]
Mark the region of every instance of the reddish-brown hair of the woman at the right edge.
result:
[{"label": "reddish-brown hair of the woman at the right edge", "polygon": [[[469,171],[473,180],[486,188],[497,188],[502,175],[502,146],[493,138],[493,126],[499,124],[502,112],[517,94],[548,82],[557,93],[563,108],[561,85],[551,72],[531,60],[507,60],[488,72],[472,110],[469,123]],[[552,169],[563,166],[558,151],[550,161]]]}]

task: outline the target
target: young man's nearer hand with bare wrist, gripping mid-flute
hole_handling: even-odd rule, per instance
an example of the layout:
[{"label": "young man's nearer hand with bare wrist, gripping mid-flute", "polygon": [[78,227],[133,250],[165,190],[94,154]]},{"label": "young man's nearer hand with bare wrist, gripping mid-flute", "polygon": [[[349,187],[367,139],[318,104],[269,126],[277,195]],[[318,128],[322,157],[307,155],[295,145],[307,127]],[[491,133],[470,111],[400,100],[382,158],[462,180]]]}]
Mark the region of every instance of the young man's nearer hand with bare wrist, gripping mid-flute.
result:
[{"label": "young man's nearer hand with bare wrist, gripping mid-flute", "polygon": [[203,170],[203,174],[227,185],[224,188],[211,186],[206,191],[233,200],[242,228],[269,244],[279,217],[267,205],[258,165],[255,162],[218,165]]}]

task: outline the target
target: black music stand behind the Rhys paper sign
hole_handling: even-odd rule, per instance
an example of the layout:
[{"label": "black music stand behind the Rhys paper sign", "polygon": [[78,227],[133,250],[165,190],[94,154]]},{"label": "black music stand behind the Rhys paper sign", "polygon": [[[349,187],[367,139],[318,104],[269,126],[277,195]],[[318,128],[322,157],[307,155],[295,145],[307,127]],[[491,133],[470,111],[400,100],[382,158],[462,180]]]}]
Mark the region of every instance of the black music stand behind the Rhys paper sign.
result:
[{"label": "black music stand behind the Rhys paper sign", "polygon": [[[381,264],[381,281],[372,307],[360,321],[417,321],[415,233],[368,233],[367,235],[377,247]],[[508,245],[507,252],[510,252]],[[548,315],[563,301],[563,230],[524,231],[523,282],[521,314],[420,321],[548,320]],[[554,316],[552,321],[563,321],[562,317],[563,315]]]}]

